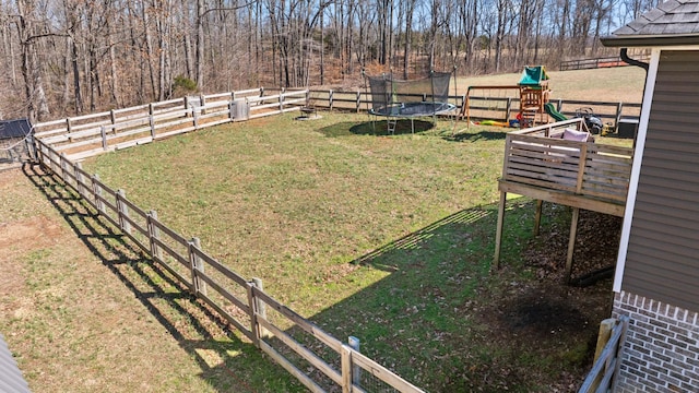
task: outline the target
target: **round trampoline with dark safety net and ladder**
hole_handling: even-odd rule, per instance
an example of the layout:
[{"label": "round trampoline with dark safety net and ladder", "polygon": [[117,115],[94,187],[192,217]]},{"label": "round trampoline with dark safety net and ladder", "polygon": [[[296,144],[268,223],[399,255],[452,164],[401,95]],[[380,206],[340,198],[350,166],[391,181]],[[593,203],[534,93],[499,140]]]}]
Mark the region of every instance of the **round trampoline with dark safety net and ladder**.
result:
[{"label": "round trampoline with dark safety net and ladder", "polygon": [[[369,115],[386,117],[389,133],[395,132],[399,119],[411,120],[411,131],[415,132],[414,119],[429,117],[455,109],[449,100],[450,72],[430,72],[428,78],[403,81],[392,74],[368,76],[371,88]],[[372,120],[372,126],[374,126]]]}]

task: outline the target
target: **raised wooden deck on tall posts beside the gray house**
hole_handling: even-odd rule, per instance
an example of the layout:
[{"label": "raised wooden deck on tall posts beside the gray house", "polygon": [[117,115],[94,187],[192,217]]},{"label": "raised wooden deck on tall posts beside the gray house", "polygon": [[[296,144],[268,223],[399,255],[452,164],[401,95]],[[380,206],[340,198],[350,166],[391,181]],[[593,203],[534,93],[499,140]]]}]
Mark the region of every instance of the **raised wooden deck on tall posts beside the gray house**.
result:
[{"label": "raised wooden deck on tall posts beside the gray house", "polygon": [[581,119],[572,119],[508,133],[502,177],[499,180],[495,269],[499,265],[508,192],[540,201],[535,231],[538,230],[543,201],[573,207],[566,261],[567,281],[572,267],[579,210],[624,216],[633,150],[556,138],[565,129],[583,128]]}]

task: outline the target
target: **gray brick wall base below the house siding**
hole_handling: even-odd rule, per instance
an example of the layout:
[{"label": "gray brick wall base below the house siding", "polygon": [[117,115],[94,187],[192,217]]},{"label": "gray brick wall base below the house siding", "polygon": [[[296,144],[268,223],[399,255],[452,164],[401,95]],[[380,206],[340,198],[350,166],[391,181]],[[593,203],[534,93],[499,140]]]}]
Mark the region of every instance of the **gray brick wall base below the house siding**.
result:
[{"label": "gray brick wall base below the house siding", "polygon": [[699,313],[621,291],[629,317],[616,392],[699,392]]}]

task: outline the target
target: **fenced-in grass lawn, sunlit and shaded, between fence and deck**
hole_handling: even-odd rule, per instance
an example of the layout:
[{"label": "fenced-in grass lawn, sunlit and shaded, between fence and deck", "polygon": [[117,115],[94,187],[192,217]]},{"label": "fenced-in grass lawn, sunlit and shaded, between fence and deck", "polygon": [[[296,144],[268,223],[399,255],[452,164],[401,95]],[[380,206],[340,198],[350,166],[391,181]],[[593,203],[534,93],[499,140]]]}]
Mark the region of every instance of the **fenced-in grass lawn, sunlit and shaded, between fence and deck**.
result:
[{"label": "fenced-in grass lawn, sunlit and shaded, between fence and deck", "polygon": [[387,136],[364,115],[321,115],[221,126],[85,167],[428,391],[545,391],[584,372],[589,337],[556,337],[542,353],[491,335],[484,310],[511,283],[533,279],[518,262],[532,209],[512,211],[509,266],[489,273],[501,129],[452,138],[452,123],[440,121]]}]

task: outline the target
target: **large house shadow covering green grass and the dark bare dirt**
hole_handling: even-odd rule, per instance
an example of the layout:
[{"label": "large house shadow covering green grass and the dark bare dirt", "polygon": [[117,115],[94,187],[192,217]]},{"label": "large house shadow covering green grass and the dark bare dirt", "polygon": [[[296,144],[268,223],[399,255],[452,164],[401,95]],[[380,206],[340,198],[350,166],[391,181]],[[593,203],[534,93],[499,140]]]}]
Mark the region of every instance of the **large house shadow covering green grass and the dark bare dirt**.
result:
[{"label": "large house shadow covering green grass and the dark bare dirt", "polygon": [[569,384],[561,374],[577,383],[602,318],[570,300],[600,295],[523,274],[534,206],[508,203],[498,274],[497,207],[467,209],[352,261],[388,274],[311,320],[430,392],[540,391]]}]

